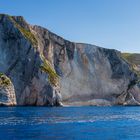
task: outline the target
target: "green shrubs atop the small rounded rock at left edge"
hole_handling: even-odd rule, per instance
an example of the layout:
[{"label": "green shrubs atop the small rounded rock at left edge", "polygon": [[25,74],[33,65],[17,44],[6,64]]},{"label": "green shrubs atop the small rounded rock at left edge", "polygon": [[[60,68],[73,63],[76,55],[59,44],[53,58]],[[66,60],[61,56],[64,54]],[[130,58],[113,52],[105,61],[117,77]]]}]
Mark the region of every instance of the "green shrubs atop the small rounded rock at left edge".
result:
[{"label": "green shrubs atop the small rounded rock at left edge", "polygon": [[3,73],[0,73],[0,85],[2,86],[8,86],[10,85],[11,81],[8,77],[6,77],[6,75],[4,75]]}]

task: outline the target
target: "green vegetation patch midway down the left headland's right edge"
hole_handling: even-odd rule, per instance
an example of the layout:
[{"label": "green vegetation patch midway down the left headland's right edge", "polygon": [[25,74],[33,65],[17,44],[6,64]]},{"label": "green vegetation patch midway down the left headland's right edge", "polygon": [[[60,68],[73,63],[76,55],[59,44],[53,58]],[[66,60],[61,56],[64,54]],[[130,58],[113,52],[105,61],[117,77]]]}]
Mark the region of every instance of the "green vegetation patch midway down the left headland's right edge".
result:
[{"label": "green vegetation patch midway down the left headland's right edge", "polygon": [[52,66],[50,65],[50,63],[45,58],[43,58],[43,65],[41,65],[40,68],[41,68],[41,70],[43,72],[48,73],[49,82],[52,85],[56,86],[57,83],[58,83],[59,76],[57,75],[57,73],[55,72],[55,70],[52,68]]}]

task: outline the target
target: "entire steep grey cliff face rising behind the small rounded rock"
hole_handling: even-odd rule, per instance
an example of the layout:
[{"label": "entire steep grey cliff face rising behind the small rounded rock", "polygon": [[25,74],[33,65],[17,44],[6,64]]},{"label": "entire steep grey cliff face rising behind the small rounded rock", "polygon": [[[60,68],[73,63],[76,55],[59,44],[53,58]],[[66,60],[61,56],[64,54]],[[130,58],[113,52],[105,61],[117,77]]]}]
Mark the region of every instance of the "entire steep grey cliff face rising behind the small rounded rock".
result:
[{"label": "entire steep grey cliff face rising behind the small rounded rock", "polygon": [[17,105],[139,105],[138,76],[116,50],[67,41],[0,15],[0,72]]}]

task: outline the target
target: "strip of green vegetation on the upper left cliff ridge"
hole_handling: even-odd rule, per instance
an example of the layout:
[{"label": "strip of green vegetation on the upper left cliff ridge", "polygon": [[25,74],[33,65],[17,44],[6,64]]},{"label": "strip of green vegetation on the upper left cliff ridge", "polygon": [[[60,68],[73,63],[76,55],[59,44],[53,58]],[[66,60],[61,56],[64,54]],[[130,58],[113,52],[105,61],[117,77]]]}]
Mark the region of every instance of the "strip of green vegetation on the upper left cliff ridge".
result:
[{"label": "strip of green vegetation on the upper left cliff ridge", "polygon": [[[37,45],[37,39],[35,38],[34,34],[31,33],[30,30],[27,30],[18,24],[15,19],[11,16],[9,16],[10,20],[14,23],[14,25],[19,29],[19,31],[25,36],[26,39],[28,39],[32,44]],[[21,22],[22,22],[21,18]]]}]

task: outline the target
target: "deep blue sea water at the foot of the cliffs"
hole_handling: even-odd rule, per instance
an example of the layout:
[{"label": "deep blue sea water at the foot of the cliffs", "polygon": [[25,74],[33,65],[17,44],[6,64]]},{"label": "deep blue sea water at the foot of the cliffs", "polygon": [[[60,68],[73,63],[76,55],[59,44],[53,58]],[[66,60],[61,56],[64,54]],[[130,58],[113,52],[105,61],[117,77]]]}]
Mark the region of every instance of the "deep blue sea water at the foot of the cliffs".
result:
[{"label": "deep blue sea water at the foot of the cliffs", "polygon": [[1,107],[0,140],[140,140],[140,107]]}]

